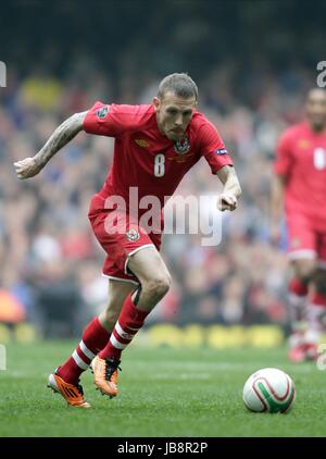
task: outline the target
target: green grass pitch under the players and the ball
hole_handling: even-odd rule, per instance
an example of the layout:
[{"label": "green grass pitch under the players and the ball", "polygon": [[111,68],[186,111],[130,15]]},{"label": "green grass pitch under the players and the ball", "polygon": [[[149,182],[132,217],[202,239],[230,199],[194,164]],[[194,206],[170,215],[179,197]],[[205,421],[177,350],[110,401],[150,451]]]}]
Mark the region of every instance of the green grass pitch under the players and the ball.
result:
[{"label": "green grass pitch under the players and the ball", "polygon": [[[0,437],[8,436],[326,436],[326,373],[291,364],[286,349],[145,349],[131,346],[120,373],[121,394],[102,397],[88,371],[91,409],[67,408],[46,387],[73,350],[72,342],[10,344],[0,371]],[[276,367],[297,386],[288,414],[251,413],[241,399],[255,370]]]}]

